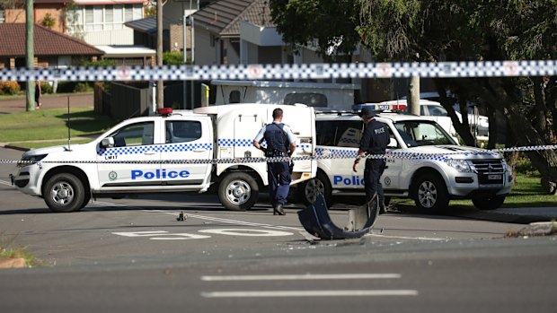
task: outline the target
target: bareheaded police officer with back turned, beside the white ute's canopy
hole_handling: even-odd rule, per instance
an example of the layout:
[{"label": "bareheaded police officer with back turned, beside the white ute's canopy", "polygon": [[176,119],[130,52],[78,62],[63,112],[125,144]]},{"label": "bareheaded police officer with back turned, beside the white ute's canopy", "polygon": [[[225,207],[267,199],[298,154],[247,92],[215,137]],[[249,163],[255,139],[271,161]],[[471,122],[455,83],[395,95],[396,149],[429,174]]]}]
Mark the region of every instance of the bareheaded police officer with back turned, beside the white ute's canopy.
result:
[{"label": "bareheaded police officer with back turned, beside the white ute's canopy", "polygon": [[[265,156],[292,157],[296,150],[296,136],[289,126],[282,123],[282,109],[273,110],[273,122],[263,126],[259,134],[253,139],[253,146],[265,152]],[[261,142],[267,142],[267,148],[261,146]],[[289,161],[278,161],[267,163],[267,175],[269,177],[270,204],[273,206],[273,215],[286,215],[283,205],[287,202],[288,190],[290,189]]]}]

